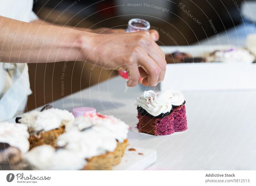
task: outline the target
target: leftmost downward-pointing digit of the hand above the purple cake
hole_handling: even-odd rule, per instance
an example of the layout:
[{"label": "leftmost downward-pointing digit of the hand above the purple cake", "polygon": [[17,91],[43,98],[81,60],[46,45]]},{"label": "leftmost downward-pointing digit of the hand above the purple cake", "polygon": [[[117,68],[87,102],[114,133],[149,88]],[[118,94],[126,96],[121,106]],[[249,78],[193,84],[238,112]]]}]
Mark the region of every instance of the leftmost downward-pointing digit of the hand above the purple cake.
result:
[{"label": "leftmost downward-pointing digit of the hand above the purple cake", "polygon": [[140,79],[140,72],[138,69],[138,65],[137,64],[129,64],[126,68],[126,71],[128,72],[128,75],[129,75],[129,80],[127,81],[127,86],[128,87],[136,86]]}]

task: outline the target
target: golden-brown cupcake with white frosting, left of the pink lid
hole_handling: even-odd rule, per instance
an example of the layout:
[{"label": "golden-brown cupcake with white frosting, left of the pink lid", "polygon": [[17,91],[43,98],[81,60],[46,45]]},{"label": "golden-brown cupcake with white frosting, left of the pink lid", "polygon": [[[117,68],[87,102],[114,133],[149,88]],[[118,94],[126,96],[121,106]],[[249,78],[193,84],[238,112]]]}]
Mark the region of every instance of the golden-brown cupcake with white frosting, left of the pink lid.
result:
[{"label": "golden-brown cupcake with white frosting, left of the pink lid", "polygon": [[56,141],[60,134],[67,128],[71,128],[75,117],[66,110],[50,108],[42,112],[29,112],[18,121],[28,126],[30,136],[28,138],[30,148],[48,144],[56,147]]}]

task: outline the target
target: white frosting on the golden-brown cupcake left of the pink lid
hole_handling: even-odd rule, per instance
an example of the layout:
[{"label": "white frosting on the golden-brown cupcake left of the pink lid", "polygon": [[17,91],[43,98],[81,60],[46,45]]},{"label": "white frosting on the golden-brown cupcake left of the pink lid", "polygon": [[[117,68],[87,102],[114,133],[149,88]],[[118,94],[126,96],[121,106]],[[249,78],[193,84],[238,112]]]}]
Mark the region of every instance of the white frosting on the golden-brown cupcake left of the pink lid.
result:
[{"label": "white frosting on the golden-brown cupcake left of the pink lid", "polygon": [[75,117],[72,113],[66,110],[51,108],[42,112],[33,111],[26,113],[19,120],[26,124],[31,132],[49,131],[65,125],[66,128],[71,128]]}]

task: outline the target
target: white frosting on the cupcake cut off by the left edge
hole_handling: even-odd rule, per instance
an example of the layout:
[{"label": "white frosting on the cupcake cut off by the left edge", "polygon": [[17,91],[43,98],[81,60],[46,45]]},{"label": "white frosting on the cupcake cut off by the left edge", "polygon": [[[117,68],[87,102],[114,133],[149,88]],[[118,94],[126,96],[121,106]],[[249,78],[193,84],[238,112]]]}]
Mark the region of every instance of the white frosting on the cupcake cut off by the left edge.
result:
[{"label": "white frosting on the cupcake cut off by the left edge", "polygon": [[29,150],[28,127],[23,124],[0,123],[0,143],[8,143],[22,153]]}]

